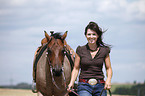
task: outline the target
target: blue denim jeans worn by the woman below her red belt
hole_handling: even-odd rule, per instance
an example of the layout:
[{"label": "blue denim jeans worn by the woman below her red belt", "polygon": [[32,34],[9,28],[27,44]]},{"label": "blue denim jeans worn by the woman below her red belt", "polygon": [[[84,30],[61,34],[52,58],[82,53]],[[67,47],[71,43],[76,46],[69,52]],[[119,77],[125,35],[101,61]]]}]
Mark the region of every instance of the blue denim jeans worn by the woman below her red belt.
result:
[{"label": "blue denim jeans worn by the woman below her red belt", "polygon": [[[90,85],[89,83],[79,82],[77,93],[79,96],[100,96],[103,89],[104,83]],[[101,96],[107,96],[107,91],[104,90]]]}]

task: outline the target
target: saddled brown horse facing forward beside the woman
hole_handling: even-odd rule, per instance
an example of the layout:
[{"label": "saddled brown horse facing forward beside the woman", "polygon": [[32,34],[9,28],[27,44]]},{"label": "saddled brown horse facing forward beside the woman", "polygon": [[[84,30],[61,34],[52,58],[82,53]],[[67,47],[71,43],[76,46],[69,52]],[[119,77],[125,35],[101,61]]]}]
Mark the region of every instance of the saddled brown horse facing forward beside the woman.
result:
[{"label": "saddled brown horse facing forward beside the woman", "polygon": [[[49,36],[45,31],[46,49],[42,53],[37,63],[36,70],[36,89],[38,96],[68,96],[67,85],[70,82],[71,70],[68,57],[67,43],[65,38],[67,31]],[[41,48],[41,49],[42,49]],[[40,49],[40,50],[41,50]]]}]

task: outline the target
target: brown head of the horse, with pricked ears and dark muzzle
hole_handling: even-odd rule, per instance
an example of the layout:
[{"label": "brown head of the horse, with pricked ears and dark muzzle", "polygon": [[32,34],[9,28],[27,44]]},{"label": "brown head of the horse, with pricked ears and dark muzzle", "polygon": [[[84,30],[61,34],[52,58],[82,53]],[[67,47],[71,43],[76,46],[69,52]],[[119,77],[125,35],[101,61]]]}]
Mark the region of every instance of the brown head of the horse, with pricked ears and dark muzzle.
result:
[{"label": "brown head of the horse, with pricked ears and dark muzzle", "polygon": [[62,73],[62,66],[64,60],[65,52],[65,38],[67,36],[67,31],[60,35],[60,33],[55,33],[49,36],[45,32],[45,37],[48,41],[47,46],[47,59],[52,67],[52,71],[55,76],[60,76]]}]

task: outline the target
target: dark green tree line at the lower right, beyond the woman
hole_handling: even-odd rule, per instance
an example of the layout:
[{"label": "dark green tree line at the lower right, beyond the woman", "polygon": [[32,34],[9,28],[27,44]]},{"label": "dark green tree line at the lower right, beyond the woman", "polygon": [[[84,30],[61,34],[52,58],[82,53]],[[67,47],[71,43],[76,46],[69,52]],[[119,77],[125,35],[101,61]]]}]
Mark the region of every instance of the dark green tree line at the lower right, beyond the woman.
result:
[{"label": "dark green tree line at the lower right, beyond the woman", "polygon": [[145,96],[145,83],[136,84],[131,88],[125,88],[125,87],[116,88],[113,94]]}]

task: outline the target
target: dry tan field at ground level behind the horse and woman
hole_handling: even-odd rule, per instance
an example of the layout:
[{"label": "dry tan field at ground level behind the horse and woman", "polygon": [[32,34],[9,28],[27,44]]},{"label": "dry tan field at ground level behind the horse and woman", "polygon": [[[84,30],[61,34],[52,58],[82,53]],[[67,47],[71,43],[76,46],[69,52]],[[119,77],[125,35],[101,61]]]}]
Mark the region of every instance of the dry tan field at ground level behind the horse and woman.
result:
[{"label": "dry tan field at ground level behind the horse and woman", "polygon": [[[33,93],[31,90],[0,88],[0,96],[37,96],[37,94]],[[131,95],[112,95],[112,96],[131,96]]]}]

